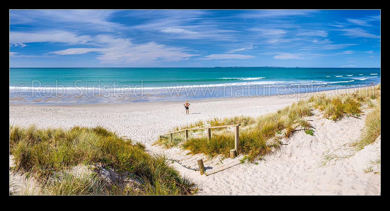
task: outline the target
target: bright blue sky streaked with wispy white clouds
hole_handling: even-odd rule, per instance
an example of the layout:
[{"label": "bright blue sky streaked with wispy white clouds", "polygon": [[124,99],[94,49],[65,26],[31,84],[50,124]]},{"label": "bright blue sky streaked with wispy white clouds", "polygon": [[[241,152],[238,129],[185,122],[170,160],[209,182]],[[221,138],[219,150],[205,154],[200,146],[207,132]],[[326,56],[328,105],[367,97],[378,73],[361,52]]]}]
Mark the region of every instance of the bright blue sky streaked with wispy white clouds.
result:
[{"label": "bright blue sky streaked with wispy white clouds", "polygon": [[10,67],[380,67],[380,10],[10,10]]}]

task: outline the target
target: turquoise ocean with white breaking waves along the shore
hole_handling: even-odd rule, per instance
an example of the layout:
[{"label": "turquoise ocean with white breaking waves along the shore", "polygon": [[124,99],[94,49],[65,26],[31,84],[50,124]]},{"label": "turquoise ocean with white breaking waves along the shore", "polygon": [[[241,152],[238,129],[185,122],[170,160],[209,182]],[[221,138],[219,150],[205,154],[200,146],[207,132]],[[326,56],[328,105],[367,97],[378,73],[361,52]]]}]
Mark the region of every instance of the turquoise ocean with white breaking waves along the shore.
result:
[{"label": "turquoise ocean with white breaking waves along the shore", "polygon": [[89,104],[302,93],[380,83],[380,68],[10,68],[10,103]]}]

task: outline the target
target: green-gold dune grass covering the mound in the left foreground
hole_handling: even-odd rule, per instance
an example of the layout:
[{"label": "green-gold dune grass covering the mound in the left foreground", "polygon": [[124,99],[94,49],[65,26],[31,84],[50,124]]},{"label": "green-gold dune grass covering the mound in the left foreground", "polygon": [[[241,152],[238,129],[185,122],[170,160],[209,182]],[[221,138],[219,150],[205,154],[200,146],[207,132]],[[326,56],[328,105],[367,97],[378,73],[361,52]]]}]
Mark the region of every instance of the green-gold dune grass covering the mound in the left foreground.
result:
[{"label": "green-gold dune grass covering the mound in the left foreground", "polygon": [[[119,170],[143,177],[150,188],[142,193],[156,195],[187,195],[193,193],[193,184],[177,170],[167,165],[164,156],[150,155],[145,146],[132,144],[103,127],[73,127],[64,129],[37,129],[10,126],[10,152],[15,170],[31,172],[40,181],[47,181],[55,172],[62,172],[78,164],[104,163]],[[74,186],[80,184],[80,186]],[[100,186],[89,177],[67,175],[50,187],[53,194],[101,194]],[[71,190],[71,186],[75,189]],[[91,190],[91,188],[93,190]]]}]

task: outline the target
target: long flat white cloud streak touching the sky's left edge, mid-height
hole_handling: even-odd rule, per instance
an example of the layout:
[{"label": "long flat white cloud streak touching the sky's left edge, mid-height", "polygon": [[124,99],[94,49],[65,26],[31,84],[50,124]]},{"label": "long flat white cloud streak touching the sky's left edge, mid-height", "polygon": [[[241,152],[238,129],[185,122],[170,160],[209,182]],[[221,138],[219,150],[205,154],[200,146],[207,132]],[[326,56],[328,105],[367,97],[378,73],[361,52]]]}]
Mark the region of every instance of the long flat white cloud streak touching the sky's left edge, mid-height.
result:
[{"label": "long flat white cloud streak touching the sky's left edge, mid-height", "polygon": [[25,46],[23,43],[60,42],[82,44],[90,41],[90,36],[78,36],[70,32],[9,32],[9,43]]}]

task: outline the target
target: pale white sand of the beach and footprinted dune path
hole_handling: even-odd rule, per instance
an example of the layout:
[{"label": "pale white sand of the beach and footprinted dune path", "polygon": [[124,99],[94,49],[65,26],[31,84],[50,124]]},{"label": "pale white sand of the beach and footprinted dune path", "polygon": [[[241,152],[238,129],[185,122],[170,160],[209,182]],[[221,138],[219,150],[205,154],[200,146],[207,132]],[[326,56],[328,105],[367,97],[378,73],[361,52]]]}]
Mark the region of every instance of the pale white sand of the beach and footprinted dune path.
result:
[{"label": "pale white sand of the beach and footprinted dune path", "polygon": [[[347,89],[339,89],[338,93]],[[325,91],[335,95],[336,90]],[[94,127],[103,125],[120,136],[146,145],[152,154],[164,153],[183,165],[197,168],[197,159],[203,158],[206,167],[218,167],[218,159],[207,160],[203,155],[187,155],[179,148],[165,149],[151,146],[160,134],[174,126],[214,117],[259,116],[275,112],[286,105],[306,98],[301,97],[253,97],[220,98],[190,101],[190,114],[184,111],[184,102],[118,103],[87,105],[16,105],[10,104],[9,124],[27,127],[70,128],[75,125]],[[298,131],[283,140],[282,150],[265,157],[258,165],[236,165],[221,172],[200,175],[177,163],[172,164],[183,175],[199,185],[199,195],[379,195],[381,176],[364,173],[370,159],[380,156],[381,140],[360,150],[355,155],[332,160],[320,166],[324,152],[347,154],[344,144],[359,138],[365,121],[363,109],[361,119],[343,118],[334,122],[321,118],[318,111],[307,119],[315,127],[315,136]],[[238,159],[238,158],[236,158]],[[230,162],[229,159],[223,163]],[[218,163],[218,164],[217,164]]]}]

